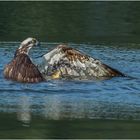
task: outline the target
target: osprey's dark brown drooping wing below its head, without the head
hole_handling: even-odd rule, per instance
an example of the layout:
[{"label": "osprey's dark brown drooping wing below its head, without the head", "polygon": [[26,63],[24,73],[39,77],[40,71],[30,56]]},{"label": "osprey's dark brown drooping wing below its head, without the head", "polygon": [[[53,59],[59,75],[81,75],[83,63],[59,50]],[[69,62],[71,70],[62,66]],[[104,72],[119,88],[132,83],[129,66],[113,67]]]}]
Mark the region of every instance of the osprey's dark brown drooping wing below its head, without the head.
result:
[{"label": "osprey's dark brown drooping wing below its head, without the head", "polygon": [[4,76],[7,79],[19,82],[39,82],[43,77],[38,68],[32,63],[29,56],[19,54],[4,69]]}]

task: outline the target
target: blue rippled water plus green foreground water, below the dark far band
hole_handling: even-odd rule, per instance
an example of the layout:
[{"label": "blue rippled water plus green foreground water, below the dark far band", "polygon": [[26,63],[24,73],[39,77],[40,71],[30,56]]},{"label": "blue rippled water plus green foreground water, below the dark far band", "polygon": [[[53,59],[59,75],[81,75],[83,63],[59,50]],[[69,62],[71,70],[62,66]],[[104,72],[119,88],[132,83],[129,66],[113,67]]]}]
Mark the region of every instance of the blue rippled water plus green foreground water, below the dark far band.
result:
[{"label": "blue rippled water plus green foreground water, below the dark far band", "polygon": [[[38,84],[4,79],[3,67],[12,59],[18,45],[18,42],[0,43],[1,138],[7,138],[7,133],[12,138],[139,137],[139,44],[69,44],[134,78],[53,80]],[[30,56],[35,58],[56,45],[41,43],[42,47],[32,49]],[[136,133],[130,133],[130,130],[136,130]]]}]

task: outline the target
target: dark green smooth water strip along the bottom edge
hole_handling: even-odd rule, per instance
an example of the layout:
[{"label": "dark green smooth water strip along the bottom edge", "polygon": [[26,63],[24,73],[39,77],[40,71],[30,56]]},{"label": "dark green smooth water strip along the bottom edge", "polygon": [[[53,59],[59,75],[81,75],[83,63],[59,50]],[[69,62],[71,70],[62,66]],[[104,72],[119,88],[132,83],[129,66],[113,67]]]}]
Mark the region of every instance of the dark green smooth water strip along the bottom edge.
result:
[{"label": "dark green smooth water strip along the bottom edge", "polygon": [[[21,123],[16,114],[0,114],[1,138],[139,138],[139,121],[46,120],[33,116],[30,124]],[[5,121],[4,121],[5,120]]]}]

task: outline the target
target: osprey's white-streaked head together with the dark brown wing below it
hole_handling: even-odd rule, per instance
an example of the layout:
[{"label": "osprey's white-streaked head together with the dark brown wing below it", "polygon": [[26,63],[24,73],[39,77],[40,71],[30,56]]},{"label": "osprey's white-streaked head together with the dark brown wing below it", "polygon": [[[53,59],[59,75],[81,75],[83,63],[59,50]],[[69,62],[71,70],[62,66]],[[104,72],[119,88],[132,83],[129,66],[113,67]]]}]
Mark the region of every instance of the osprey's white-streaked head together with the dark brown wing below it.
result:
[{"label": "osprey's white-streaked head together with the dark brown wing below it", "polygon": [[4,67],[4,77],[9,80],[36,83],[44,81],[44,78],[37,66],[29,57],[29,50],[38,45],[35,38],[29,37],[21,42],[15,51],[14,58]]}]

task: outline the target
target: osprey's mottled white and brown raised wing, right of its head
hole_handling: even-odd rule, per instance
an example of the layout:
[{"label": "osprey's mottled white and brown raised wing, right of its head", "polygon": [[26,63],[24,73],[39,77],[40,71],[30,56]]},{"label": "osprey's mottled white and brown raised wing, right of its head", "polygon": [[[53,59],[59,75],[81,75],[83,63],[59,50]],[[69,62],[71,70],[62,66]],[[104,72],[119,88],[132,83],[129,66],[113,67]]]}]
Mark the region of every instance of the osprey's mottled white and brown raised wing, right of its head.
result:
[{"label": "osprey's mottled white and brown raised wing, right of its head", "polygon": [[108,79],[125,76],[119,70],[104,64],[83,52],[60,44],[42,55],[38,69],[45,79]]}]

